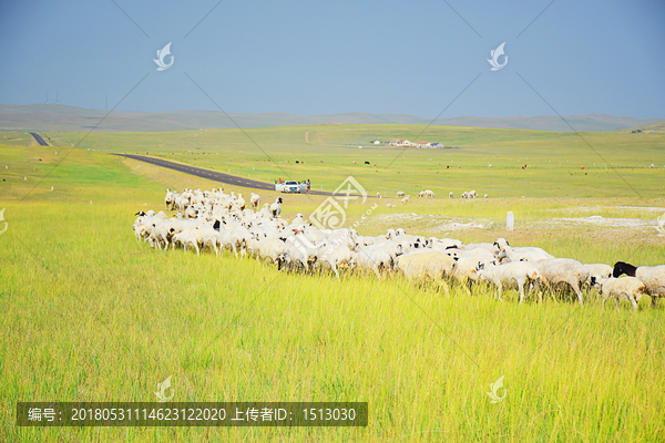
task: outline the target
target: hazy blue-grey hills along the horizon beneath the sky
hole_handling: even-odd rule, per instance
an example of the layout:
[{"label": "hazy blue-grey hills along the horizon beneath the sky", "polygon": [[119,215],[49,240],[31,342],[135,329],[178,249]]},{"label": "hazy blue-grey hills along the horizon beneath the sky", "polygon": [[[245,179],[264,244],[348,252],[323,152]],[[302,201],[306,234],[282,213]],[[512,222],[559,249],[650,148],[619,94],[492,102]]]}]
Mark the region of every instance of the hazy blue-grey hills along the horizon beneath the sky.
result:
[{"label": "hazy blue-grey hills along the horizon beneath the sky", "polygon": [[[144,132],[144,131],[185,131],[201,128],[268,127],[308,124],[430,124],[430,119],[407,114],[370,114],[349,112],[344,114],[295,115],[282,112],[236,114],[229,113],[229,120],[217,111],[167,111],[132,113],[62,104],[0,104],[0,130],[2,131],[64,131],[88,132],[99,125],[100,132]],[[606,114],[566,115],[564,119],[574,131],[623,130],[651,124],[659,124],[665,119],[634,119]],[[460,116],[439,119],[436,125],[497,127],[511,130],[536,130],[570,132],[571,126],[556,115],[533,117],[474,117]]]}]

